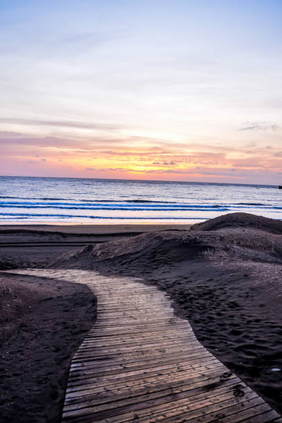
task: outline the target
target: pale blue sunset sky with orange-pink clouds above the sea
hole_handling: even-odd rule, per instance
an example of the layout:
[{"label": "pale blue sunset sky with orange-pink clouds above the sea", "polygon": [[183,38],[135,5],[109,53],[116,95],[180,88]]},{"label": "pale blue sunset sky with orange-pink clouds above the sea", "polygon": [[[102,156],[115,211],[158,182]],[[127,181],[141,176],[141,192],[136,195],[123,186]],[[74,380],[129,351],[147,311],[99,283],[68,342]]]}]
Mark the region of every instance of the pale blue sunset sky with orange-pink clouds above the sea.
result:
[{"label": "pale blue sunset sky with orange-pink clouds above the sea", "polygon": [[281,0],[0,0],[0,174],[282,183]]}]

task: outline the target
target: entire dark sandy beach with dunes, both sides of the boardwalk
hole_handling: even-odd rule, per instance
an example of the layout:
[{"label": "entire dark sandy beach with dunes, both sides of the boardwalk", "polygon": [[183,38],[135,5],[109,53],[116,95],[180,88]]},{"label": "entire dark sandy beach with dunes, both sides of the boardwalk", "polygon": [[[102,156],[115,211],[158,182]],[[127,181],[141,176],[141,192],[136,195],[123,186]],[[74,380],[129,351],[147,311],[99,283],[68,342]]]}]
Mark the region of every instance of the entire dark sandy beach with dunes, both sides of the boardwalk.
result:
[{"label": "entire dark sandy beach with dunes, both sides of the boardwalk", "polygon": [[1,225],[0,415],[59,421],[71,357],[95,322],[84,285],[5,272],[27,267],[122,274],[165,290],[198,340],[281,413],[281,235],[281,221],[243,213],[194,226]]}]

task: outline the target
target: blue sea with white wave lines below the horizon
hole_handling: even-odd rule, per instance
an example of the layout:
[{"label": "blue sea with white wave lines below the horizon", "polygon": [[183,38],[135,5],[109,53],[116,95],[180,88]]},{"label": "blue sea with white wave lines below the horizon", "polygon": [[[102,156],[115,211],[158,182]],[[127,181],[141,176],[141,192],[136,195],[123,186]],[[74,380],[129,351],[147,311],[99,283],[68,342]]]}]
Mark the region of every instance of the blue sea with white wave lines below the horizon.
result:
[{"label": "blue sea with white wave lines below the horizon", "polygon": [[195,223],[232,212],[282,219],[271,185],[0,176],[0,223]]}]

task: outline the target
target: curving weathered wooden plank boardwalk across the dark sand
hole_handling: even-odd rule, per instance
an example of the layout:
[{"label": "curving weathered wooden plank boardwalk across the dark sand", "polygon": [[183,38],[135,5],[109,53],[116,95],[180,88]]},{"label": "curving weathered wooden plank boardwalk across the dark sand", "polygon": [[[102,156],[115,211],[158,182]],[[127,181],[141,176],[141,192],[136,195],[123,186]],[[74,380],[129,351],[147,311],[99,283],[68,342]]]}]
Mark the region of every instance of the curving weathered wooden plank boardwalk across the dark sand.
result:
[{"label": "curving weathered wooden plank boardwalk across the dark sand", "polygon": [[157,288],[90,271],[14,272],[85,283],[97,295],[97,322],[73,357],[63,422],[282,422]]}]

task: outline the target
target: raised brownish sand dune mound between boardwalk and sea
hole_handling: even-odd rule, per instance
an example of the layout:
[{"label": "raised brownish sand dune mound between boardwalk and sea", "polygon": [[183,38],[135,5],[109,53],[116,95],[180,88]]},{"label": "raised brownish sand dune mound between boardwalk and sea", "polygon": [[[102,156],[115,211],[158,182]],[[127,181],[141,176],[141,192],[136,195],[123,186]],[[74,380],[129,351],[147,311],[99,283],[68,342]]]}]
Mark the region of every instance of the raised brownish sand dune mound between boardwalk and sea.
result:
[{"label": "raised brownish sand dune mound between boardwalk and sea", "polygon": [[55,267],[97,268],[110,262],[133,267],[167,264],[198,258],[282,263],[282,222],[229,214],[200,223],[189,231],[156,231],[99,245],[88,245],[56,260]]}]

